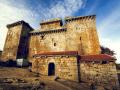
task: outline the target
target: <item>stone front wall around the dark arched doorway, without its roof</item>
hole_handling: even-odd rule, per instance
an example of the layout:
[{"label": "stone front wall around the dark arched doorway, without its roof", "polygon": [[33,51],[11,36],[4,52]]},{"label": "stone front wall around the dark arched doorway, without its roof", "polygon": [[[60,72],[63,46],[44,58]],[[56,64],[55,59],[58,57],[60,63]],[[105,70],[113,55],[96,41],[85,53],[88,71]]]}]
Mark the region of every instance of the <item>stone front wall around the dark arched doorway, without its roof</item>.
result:
[{"label": "stone front wall around the dark arched doorway, without its roof", "polygon": [[32,71],[48,76],[49,63],[55,64],[55,76],[78,81],[78,68],[76,56],[42,56],[32,61]]}]

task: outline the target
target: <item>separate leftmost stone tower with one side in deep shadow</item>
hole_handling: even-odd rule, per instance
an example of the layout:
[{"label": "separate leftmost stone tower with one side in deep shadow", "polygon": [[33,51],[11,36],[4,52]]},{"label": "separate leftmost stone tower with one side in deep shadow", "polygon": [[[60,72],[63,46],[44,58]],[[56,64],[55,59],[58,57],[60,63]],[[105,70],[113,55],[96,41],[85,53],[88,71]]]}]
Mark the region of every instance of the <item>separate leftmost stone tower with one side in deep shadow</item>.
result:
[{"label": "separate leftmost stone tower with one side in deep shadow", "polygon": [[8,33],[2,53],[2,60],[26,59],[28,53],[29,32],[33,30],[24,21],[7,25]]}]

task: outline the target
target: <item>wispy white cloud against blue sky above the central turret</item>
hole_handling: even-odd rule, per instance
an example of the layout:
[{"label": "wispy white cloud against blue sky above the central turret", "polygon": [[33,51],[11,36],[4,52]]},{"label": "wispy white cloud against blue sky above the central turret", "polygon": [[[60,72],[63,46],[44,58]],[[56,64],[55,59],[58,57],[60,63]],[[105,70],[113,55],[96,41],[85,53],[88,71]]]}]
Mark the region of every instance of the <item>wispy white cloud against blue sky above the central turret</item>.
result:
[{"label": "wispy white cloud against blue sky above the central turret", "polygon": [[[50,7],[45,8],[43,12],[43,17],[45,19],[48,18],[55,18],[55,17],[62,17],[71,16],[80,8],[82,8],[83,4],[86,0],[63,0],[58,1],[50,5]],[[47,13],[44,13],[44,12]]]}]

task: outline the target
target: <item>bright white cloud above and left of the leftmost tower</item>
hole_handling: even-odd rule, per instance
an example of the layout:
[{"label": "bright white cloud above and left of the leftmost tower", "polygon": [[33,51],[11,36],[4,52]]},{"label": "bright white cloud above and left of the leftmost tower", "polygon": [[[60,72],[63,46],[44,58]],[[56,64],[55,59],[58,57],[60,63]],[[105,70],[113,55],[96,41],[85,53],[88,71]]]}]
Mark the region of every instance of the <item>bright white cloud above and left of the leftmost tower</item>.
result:
[{"label": "bright white cloud above and left of the leftmost tower", "polygon": [[[6,1],[6,0],[5,0]],[[7,5],[6,3],[0,3],[0,49],[3,49],[5,37],[7,34],[6,25],[19,21],[25,20],[27,22],[35,22],[32,17],[32,12],[27,9],[19,9],[13,7],[12,5]]]}]

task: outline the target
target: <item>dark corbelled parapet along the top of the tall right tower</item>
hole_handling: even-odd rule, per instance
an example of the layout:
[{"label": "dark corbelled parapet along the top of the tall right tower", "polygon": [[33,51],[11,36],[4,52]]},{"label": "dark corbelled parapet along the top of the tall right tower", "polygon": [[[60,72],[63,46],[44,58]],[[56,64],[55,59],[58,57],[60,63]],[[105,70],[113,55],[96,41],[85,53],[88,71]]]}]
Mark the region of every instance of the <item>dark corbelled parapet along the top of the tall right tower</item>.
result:
[{"label": "dark corbelled parapet along the top of the tall right tower", "polygon": [[89,16],[78,16],[78,17],[66,17],[65,22],[79,20],[79,19],[95,19],[96,15],[89,15]]}]

